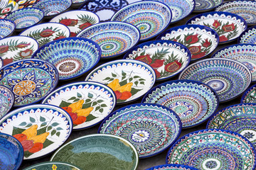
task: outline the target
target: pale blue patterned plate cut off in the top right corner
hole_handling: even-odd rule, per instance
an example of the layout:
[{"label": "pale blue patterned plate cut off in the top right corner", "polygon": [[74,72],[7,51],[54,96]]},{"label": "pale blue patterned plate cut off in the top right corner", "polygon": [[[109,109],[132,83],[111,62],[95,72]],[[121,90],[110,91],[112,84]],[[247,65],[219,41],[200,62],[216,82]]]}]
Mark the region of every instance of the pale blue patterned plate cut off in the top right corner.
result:
[{"label": "pale blue patterned plate cut off in the top right corner", "polygon": [[235,13],[244,18],[248,25],[256,23],[255,1],[228,1],[215,8],[215,11]]}]

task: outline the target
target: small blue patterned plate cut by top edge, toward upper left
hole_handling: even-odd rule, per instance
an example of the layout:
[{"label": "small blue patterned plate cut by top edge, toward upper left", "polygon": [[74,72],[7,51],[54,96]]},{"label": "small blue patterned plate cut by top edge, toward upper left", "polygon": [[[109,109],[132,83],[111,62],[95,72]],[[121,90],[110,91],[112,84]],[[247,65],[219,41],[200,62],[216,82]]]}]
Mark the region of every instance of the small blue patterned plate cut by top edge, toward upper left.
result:
[{"label": "small blue patterned plate cut by top edge, toward upper left", "polygon": [[33,4],[33,8],[40,8],[46,18],[58,15],[68,10],[72,4],[72,0],[39,0]]}]

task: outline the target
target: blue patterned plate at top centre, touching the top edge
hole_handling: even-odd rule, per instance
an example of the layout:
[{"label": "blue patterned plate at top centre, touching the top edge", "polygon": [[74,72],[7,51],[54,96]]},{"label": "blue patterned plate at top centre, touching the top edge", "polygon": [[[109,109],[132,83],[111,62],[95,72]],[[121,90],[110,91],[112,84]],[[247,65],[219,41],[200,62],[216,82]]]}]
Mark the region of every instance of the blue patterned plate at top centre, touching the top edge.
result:
[{"label": "blue patterned plate at top centre, touching the top edge", "polygon": [[114,13],[111,21],[131,23],[139,28],[140,40],[149,40],[159,35],[171,23],[171,9],[159,1],[139,1]]}]

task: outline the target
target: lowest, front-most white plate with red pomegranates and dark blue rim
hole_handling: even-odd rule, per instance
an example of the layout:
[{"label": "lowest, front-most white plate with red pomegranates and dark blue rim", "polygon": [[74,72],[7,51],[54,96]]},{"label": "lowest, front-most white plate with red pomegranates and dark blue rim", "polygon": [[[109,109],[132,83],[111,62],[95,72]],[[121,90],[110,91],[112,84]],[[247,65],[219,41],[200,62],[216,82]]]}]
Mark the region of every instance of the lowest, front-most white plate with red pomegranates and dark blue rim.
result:
[{"label": "lowest, front-most white plate with red pomegranates and dark blue rim", "polygon": [[129,50],[124,59],[139,60],[149,64],[156,73],[156,80],[174,77],[185,69],[191,52],[181,43],[171,40],[144,42]]}]

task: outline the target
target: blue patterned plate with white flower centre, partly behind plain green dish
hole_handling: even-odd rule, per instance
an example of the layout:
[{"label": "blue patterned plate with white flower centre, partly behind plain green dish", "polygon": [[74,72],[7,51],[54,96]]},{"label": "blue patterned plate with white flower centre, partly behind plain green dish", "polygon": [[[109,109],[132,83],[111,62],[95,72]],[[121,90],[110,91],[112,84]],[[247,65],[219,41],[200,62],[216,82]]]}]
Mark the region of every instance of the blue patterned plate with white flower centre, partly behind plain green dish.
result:
[{"label": "blue patterned plate with white flower centre, partly behind plain green dish", "polygon": [[138,103],[107,116],[99,132],[123,137],[145,158],[163,152],[178,138],[181,120],[164,106]]}]

